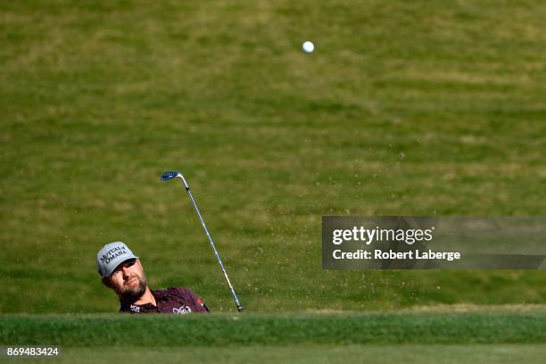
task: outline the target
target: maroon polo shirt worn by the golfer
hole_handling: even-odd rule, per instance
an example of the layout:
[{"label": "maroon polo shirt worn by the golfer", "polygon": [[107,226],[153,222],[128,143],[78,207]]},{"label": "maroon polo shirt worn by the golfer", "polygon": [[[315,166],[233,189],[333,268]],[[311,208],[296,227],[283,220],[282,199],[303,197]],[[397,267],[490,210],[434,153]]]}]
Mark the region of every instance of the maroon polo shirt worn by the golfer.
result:
[{"label": "maroon polo shirt worn by the golfer", "polygon": [[120,301],[120,313],[177,313],[209,312],[203,300],[183,287],[152,290],[157,306],[152,303],[134,304]]}]

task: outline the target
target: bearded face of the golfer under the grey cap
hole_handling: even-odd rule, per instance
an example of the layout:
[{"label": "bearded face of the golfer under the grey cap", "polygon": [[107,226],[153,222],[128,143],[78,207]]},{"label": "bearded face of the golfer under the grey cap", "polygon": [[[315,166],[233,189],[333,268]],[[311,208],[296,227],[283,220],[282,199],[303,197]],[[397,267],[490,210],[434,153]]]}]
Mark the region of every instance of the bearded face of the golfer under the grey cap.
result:
[{"label": "bearded face of the golfer under the grey cap", "polygon": [[140,261],[130,259],[121,263],[107,279],[108,285],[124,301],[138,300],[146,290],[146,277]]}]

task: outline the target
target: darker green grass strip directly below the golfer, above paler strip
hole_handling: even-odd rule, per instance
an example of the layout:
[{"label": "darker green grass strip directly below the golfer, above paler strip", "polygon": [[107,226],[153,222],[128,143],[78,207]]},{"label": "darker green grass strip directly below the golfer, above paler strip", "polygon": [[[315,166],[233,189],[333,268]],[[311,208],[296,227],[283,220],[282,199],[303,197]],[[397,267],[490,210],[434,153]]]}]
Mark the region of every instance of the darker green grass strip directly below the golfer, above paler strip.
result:
[{"label": "darker green grass strip directly below the golfer, above paler strip", "polygon": [[3,316],[4,345],[546,343],[546,312]]}]

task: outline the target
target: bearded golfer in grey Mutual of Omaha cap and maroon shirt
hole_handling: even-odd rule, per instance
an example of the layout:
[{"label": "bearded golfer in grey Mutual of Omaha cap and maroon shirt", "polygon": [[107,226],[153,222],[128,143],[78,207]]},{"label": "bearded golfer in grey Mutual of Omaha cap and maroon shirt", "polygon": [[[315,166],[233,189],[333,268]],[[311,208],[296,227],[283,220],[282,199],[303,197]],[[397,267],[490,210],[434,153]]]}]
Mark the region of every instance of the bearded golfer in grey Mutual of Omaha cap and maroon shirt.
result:
[{"label": "bearded golfer in grey Mutual of Omaha cap and maroon shirt", "polygon": [[96,254],[103,285],[120,297],[122,313],[209,312],[203,300],[182,287],[151,290],[138,257],[121,242],[106,244]]}]

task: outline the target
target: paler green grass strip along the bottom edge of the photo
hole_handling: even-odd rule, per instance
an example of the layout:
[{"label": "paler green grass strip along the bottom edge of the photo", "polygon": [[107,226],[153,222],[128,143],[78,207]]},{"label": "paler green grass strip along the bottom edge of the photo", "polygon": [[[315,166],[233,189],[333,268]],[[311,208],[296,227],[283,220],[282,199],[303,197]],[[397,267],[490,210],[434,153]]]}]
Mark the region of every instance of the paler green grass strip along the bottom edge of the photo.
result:
[{"label": "paler green grass strip along the bottom edge of the photo", "polygon": [[[62,351],[55,363],[95,363],[115,360],[148,363],[150,360],[177,363],[195,360],[203,363],[332,363],[358,360],[361,363],[542,363],[544,344],[405,344],[405,345],[286,345],[235,347],[160,347],[160,348],[70,348]],[[35,360],[6,360],[35,362]]]}]

